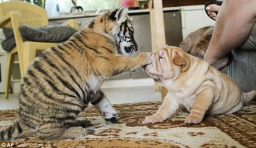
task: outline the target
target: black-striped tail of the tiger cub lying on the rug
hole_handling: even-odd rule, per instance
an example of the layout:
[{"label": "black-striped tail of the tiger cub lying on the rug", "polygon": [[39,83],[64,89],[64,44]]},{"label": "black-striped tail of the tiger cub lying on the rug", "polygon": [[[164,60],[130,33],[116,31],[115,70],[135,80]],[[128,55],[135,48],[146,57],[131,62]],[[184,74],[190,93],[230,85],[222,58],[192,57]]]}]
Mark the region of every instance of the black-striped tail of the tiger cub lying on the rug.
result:
[{"label": "black-striped tail of the tiger cub lying on the rug", "polygon": [[17,119],[16,122],[12,124],[12,126],[0,130],[0,141],[16,138],[16,136],[18,136],[22,132],[23,129],[21,123],[19,122],[19,119]]}]

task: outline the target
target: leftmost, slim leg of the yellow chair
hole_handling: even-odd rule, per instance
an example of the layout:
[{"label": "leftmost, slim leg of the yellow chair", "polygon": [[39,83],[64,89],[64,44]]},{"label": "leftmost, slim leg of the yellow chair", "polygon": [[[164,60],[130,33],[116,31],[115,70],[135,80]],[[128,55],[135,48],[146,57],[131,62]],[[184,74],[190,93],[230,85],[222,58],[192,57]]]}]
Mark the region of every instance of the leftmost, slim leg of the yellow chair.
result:
[{"label": "leftmost, slim leg of the yellow chair", "polygon": [[9,53],[7,55],[7,62],[6,62],[6,74],[5,74],[5,98],[9,98],[9,88],[11,83],[12,77],[12,69],[14,64],[14,57],[16,53]]}]

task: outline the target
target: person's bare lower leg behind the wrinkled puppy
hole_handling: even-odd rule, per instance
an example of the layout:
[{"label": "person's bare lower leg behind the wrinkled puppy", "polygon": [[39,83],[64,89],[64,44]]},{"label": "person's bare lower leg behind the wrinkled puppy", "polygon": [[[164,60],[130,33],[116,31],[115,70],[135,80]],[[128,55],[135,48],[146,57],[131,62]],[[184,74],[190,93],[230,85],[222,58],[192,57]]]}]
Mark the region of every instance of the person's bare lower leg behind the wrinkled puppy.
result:
[{"label": "person's bare lower leg behind the wrinkled puppy", "polygon": [[252,0],[223,2],[204,60],[217,69],[228,64],[227,53],[244,43],[251,33],[256,17],[255,5],[256,1]]}]

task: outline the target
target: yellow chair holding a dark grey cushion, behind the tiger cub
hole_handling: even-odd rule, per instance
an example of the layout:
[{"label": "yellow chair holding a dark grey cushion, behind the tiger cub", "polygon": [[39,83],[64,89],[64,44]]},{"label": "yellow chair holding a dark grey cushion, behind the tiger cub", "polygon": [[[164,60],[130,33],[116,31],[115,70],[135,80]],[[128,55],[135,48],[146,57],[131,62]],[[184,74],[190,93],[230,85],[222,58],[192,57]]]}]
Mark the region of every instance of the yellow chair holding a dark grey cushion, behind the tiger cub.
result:
[{"label": "yellow chair holding a dark grey cushion, behind the tiger cub", "polygon": [[[37,50],[45,50],[57,43],[22,41],[19,26],[42,27],[48,25],[47,12],[45,9],[32,5],[28,2],[2,2],[0,3],[0,27],[12,28],[15,36],[16,47],[7,53],[7,70],[5,79],[5,98],[9,97],[9,85],[12,76],[14,57],[18,54],[21,76],[24,75],[30,62],[36,57]],[[74,19],[64,22],[63,25],[78,29],[78,22]]]}]

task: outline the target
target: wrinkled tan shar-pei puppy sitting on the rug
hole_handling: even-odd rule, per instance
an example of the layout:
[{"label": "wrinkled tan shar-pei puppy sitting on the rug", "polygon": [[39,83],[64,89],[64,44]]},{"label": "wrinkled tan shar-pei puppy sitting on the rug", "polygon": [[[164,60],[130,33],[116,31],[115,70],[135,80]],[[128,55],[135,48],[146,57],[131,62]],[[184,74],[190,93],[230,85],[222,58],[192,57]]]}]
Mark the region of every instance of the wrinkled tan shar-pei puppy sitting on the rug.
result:
[{"label": "wrinkled tan shar-pei puppy sitting on the rug", "polygon": [[256,91],[244,93],[238,84],[175,46],[164,46],[150,56],[151,64],[144,66],[145,73],[167,88],[168,94],[160,108],[147,116],[144,123],[163,122],[183,105],[190,113],[185,123],[202,122],[204,115],[231,114],[250,102]]}]

